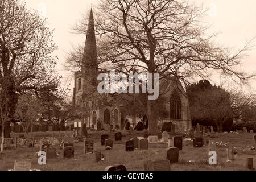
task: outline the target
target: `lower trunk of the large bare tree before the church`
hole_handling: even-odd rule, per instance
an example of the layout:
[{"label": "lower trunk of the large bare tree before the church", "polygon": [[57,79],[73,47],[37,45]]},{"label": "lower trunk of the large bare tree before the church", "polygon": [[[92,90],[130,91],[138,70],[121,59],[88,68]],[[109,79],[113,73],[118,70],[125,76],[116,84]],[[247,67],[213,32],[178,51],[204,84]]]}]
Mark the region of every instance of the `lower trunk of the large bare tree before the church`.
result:
[{"label": "lower trunk of the large bare tree before the church", "polygon": [[155,100],[147,100],[148,104],[148,125],[150,135],[158,135],[158,123],[155,118]]}]

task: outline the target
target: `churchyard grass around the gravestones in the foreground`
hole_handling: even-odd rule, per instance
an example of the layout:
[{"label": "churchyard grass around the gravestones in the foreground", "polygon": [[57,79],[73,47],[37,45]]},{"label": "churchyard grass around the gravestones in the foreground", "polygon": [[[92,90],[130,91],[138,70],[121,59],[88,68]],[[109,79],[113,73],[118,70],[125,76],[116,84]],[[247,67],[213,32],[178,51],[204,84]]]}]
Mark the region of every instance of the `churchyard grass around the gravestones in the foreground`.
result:
[{"label": "churchyard grass around the gravestones in the foreground", "polygon": [[[52,133],[35,133],[36,137],[42,135],[44,137]],[[69,133],[71,135],[71,133]],[[32,159],[32,169],[40,169],[42,171],[103,171],[107,166],[114,164],[124,164],[129,171],[143,171],[143,164],[147,160],[163,160],[166,158],[165,149],[167,143],[150,143],[148,150],[135,150],[133,152],[125,151],[125,141],[133,137],[143,137],[141,132],[125,132],[123,133],[122,141],[113,143],[112,150],[105,150],[101,146],[101,134],[109,134],[104,132],[89,132],[88,139],[94,140],[94,151],[100,150],[105,155],[105,160],[96,163],[95,154],[84,154],[84,142],[75,143],[75,158],[63,159],[61,148],[57,148],[59,156],[57,159],[47,160],[47,165],[40,166],[38,164],[38,156],[36,152],[39,147],[34,148],[12,148],[5,150],[6,161],[3,169],[13,169],[14,160]],[[61,133],[64,135],[64,133]],[[12,136],[13,137],[13,136]],[[110,134],[110,138],[114,140],[114,134]],[[160,138],[159,138],[160,139]],[[206,140],[216,142],[229,142],[230,147],[236,147],[238,151],[238,159],[232,162],[226,162],[226,148],[217,146],[217,165],[210,166],[208,163],[208,144]],[[179,154],[179,162],[171,165],[172,171],[245,171],[246,157],[255,157],[256,151],[250,150],[253,145],[253,134],[251,133],[221,133],[211,134],[204,137],[204,147],[193,148],[193,142],[186,141],[183,143],[183,150]],[[189,162],[190,161],[190,162]],[[254,159],[254,168],[255,166]]]}]

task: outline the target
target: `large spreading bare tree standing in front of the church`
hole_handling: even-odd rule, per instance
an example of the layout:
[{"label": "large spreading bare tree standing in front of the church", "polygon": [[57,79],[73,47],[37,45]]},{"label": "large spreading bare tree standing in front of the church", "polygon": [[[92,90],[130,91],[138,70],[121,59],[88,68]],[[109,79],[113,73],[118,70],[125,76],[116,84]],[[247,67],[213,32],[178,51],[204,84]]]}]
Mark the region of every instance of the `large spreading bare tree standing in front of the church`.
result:
[{"label": "large spreading bare tree standing in front of the church", "polygon": [[[246,82],[254,75],[237,68],[250,42],[237,52],[217,46],[216,34],[207,34],[209,27],[201,23],[205,12],[187,0],[101,0],[94,9],[99,71],[114,68],[128,74],[138,69],[158,73],[160,80],[175,77],[184,85],[216,71]],[[77,32],[86,33],[86,26],[84,19],[77,24]],[[155,104],[147,101],[151,135],[158,133]]]}]

